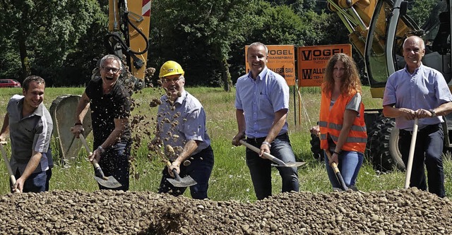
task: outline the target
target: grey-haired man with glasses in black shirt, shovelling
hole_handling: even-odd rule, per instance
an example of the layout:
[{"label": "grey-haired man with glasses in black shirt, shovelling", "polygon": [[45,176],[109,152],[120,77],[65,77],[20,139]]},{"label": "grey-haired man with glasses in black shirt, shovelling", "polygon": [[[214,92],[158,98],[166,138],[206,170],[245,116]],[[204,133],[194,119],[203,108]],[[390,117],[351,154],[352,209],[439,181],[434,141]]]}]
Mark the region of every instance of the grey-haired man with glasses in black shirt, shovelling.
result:
[{"label": "grey-haired man with glasses in black shirt, shovelling", "polygon": [[88,83],[78,102],[76,119],[71,131],[76,137],[83,131],[82,121],[88,107],[93,120],[94,151],[90,161],[97,159],[105,176],[113,176],[121,183],[119,188],[100,189],[129,190],[129,156],[131,130],[129,128],[130,95],[118,82],[121,60],[114,55],[100,60],[100,77]]}]

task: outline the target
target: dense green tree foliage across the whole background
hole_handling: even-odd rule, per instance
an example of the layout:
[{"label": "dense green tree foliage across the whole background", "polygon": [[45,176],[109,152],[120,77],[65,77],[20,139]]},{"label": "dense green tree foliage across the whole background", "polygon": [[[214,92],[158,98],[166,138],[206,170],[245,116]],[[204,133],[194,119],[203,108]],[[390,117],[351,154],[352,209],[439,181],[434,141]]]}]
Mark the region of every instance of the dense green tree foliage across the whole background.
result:
[{"label": "dense green tree foliage across the whole background", "polygon": [[[416,1],[417,20],[438,0]],[[83,85],[106,54],[107,0],[0,0],[0,78],[30,73],[49,85]],[[244,74],[244,47],[348,43],[348,32],[324,1],[154,0],[148,67],[179,62],[188,85],[224,85]],[[157,73],[155,74],[155,80]]]}]

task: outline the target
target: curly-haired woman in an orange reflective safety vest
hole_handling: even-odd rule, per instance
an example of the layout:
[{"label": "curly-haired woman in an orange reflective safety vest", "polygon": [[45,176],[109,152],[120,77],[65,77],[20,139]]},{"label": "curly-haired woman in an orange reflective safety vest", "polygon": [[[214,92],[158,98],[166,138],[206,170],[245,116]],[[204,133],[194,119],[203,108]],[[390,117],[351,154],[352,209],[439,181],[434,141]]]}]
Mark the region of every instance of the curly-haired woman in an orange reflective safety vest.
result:
[{"label": "curly-haired woman in an orange reflective safety vest", "polygon": [[345,184],[356,190],[355,183],[364,159],[367,143],[361,82],[355,61],[346,54],[334,54],[323,76],[319,126],[311,133],[319,135],[325,155],[326,171],[333,188],[340,188],[331,163],[338,164]]}]

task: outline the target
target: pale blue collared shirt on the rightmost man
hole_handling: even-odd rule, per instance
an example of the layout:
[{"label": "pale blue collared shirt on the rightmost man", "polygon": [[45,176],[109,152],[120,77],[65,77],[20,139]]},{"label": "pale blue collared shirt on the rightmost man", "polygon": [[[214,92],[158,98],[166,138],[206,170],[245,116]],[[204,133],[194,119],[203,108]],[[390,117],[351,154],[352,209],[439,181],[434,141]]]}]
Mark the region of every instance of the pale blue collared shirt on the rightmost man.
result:
[{"label": "pale blue collared shirt on the rightmost man", "polygon": [[[439,71],[421,64],[410,74],[405,67],[388,78],[383,96],[383,106],[395,104],[396,108],[434,109],[452,102],[451,91]],[[419,119],[419,129],[443,122],[441,116]],[[414,120],[396,118],[396,127],[412,131]]]}]

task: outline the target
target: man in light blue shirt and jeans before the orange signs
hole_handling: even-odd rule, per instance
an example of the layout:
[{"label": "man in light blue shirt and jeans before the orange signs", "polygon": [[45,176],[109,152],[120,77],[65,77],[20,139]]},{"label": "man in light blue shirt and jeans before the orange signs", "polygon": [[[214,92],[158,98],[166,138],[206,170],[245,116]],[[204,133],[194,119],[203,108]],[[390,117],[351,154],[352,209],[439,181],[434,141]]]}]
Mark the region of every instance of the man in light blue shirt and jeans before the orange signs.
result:
[{"label": "man in light blue shirt and jeans before the orange signs", "polygon": [[[295,155],[287,135],[289,111],[289,87],[285,79],[267,68],[268,48],[261,42],[248,47],[246,56],[251,71],[237,80],[235,108],[239,132],[232,145],[239,140],[258,147],[256,153],[246,149],[246,164],[253,181],[256,198],[262,200],[271,195],[271,162],[263,157],[270,153],[283,162],[295,162]],[[283,192],[298,191],[296,167],[278,167],[283,179]]]}]

